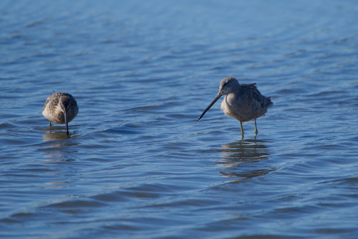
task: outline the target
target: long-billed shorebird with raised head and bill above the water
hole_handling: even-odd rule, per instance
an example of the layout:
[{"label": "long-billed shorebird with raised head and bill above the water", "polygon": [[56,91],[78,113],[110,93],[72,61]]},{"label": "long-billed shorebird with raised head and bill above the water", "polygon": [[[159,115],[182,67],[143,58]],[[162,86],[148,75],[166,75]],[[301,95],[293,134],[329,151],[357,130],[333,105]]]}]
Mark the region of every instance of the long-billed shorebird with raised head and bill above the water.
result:
[{"label": "long-billed shorebird with raised head and bill above the water", "polygon": [[210,109],[211,106],[222,96],[225,95],[221,103],[221,110],[228,117],[237,119],[240,122],[241,134],[244,134],[242,123],[253,120],[255,121],[255,134],[257,135],[256,119],[264,116],[267,108],[274,103],[270,97],[261,95],[260,91],[252,84],[239,84],[235,77],[224,78],[220,82],[219,93],[210,105],[200,115],[200,120],[203,115]]}]

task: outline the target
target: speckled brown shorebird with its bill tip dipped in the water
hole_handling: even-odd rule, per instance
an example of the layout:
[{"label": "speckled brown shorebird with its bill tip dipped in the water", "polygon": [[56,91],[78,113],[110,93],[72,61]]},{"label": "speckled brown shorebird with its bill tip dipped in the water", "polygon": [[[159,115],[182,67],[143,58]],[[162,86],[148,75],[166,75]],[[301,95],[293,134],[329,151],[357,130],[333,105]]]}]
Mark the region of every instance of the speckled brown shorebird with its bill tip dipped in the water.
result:
[{"label": "speckled brown shorebird with its bill tip dipped in the water", "polygon": [[66,134],[68,135],[68,122],[73,120],[78,113],[76,100],[72,95],[61,92],[53,93],[47,97],[42,114],[55,124],[66,124]]}]

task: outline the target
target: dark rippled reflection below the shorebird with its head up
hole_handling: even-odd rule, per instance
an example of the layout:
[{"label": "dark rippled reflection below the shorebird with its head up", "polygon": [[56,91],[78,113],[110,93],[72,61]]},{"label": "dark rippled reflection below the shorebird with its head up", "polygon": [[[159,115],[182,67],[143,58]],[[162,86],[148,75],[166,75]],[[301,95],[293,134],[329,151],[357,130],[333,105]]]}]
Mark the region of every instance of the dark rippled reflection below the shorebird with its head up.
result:
[{"label": "dark rippled reflection below the shorebird with its head up", "polygon": [[[222,152],[221,162],[224,166],[219,172],[224,177],[252,178],[263,176],[275,170],[273,167],[260,167],[255,164],[269,158],[269,150],[264,140],[247,139],[223,144],[218,151]],[[250,163],[243,165],[245,163]]]}]

